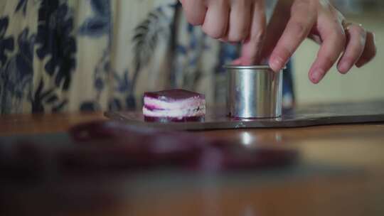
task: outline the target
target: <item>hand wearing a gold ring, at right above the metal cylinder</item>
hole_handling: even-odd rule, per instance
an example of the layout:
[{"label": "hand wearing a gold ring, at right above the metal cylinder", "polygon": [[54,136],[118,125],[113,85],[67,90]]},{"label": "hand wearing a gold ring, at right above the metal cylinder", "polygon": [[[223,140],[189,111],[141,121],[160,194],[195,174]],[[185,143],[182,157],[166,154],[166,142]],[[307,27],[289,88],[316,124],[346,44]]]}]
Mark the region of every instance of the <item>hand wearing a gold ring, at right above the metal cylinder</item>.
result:
[{"label": "hand wearing a gold ring, at right above the metal cylinder", "polygon": [[345,74],[376,54],[373,33],[346,21],[326,0],[280,0],[268,25],[262,54],[271,68],[279,71],[307,37],[321,45],[309,70],[309,80],[314,83],[319,83],[336,61],[339,72]]}]

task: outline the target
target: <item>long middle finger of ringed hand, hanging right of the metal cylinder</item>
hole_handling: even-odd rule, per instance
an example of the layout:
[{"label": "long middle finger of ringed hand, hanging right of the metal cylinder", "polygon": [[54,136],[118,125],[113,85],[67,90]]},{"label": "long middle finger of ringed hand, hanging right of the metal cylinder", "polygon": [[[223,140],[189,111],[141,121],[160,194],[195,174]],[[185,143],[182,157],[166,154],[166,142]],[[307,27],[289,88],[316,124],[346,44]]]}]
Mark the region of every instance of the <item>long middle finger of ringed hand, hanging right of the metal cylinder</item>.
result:
[{"label": "long middle finger of ringed hand, hanging right of the metal cylinder", "polygon": [[309,80],[314,84],[319,83],[326,72],[336,63],[341,52],[345,48],[346,36],[341,23],[335,23],[332,19],[319,23],[323,43],[314,64],[309,70]]}]

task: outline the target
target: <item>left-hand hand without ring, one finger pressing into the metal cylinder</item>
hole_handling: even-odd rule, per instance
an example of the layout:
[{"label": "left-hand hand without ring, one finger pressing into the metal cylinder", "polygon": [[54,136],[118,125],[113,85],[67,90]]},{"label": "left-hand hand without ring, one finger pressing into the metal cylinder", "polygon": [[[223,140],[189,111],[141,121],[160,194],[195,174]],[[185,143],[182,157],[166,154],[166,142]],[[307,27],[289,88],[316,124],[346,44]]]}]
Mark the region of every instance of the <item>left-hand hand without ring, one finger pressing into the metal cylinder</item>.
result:
[{"label": "left-hand hand without ring, one finger pressing into the metal cylinder", "polygon": [[224,42],[242,42],[236,65],[260,60],[267,26],[264,0],[180,0],[189,23]]}]

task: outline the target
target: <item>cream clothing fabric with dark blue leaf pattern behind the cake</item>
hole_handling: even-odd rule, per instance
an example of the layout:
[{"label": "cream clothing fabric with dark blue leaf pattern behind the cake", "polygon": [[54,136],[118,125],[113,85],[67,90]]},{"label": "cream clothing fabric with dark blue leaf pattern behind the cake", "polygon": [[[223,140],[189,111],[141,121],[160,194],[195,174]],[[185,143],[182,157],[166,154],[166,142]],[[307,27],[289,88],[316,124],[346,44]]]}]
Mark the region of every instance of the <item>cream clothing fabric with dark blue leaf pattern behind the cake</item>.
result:
[{"label": "cream clothing fabric with dark blue leaf pattern behind the cake", "polygon": [[137,109],[144,91],[169,88],[222,104],[221,66],[238,51],[189,25],[175,0],[2,0],[0,112]]}]

